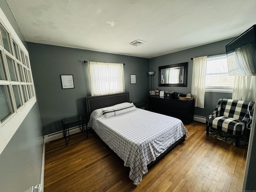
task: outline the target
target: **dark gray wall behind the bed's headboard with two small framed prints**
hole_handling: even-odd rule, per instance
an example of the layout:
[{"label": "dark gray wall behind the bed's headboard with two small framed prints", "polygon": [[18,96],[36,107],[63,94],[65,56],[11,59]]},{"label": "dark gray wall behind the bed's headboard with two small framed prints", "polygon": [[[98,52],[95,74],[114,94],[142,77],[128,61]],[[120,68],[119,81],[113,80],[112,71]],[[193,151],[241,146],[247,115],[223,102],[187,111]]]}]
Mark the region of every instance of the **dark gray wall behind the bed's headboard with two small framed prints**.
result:
[{"label": "dark gray wall behind the bed's headboard with two small framed prints", "polygon": [[[91,96],[86,61],[125,63],[125,91],[132,102],[146,102],[148,59],[27,42],[44,135],[61,131],[60,120],[86,116],[85,97]],[[73,75],[74,88],[62,89],[60,75]],[[136,74],[136,84],[130,84]]]}]

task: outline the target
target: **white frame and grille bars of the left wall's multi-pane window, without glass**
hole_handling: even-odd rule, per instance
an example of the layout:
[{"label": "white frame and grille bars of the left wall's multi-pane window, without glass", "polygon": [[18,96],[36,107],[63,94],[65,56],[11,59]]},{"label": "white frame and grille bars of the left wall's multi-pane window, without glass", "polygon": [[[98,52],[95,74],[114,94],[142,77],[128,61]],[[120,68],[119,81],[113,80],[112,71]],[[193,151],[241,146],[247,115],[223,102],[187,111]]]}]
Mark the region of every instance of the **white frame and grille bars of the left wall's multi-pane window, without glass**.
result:
[{"label": "white frame and grille bars of the left wall's multi-pane window, without glass", "polygon": [[[12,136],[14,135],[14,133],[16,132],[16,130],[19,128],[20,124],[26,118],[26,115],[28,114],[28,112],[30,112],[31,108],[36,103],[36,96],[34,94],[34,82],[33,82],[32,71],[31,71],[31,67],[30,67],[30,63],[29,63],[28,50],[26,50],[26,47],[24,46],[24,44],[22,43],[22,41],[16,34],[14,28],[12,28],[12,25],[10,24],[10,22],[4,15],[4,12],[2,11],[1,8],[0,8],[0,23],[9,33],[9,39],[10,39],[12,52],[14,52],[13,44],[12,44],[12,40],[14,40],[14,42],[18,46],[18,52],[20,53],[20,49],[21,49],[24,52],[24,54],[28,57],[28,63],[22,64],[22,62],[20,62],[18,59],[16,59],[16,57],[14,56],[15,54],[12,55],[12,54],[8,53],[6,50],[3,50],[3,53],[8,55],[10,58],[14,59],[15,63],[18,62],[19,64],[22,64],[22,67],[26,68],[30,72],[30,75],[31,75],[31,82],[30,81],[29,82],[20,82],[18,73],[17,73],[18,82],[12,82],[8,78],[7,78],[8,80],[0,80],[1,85],[8,85],[11,88],[10,96],[11,96],[12,105],[14,108],[14,113],[10,114],[10,116],[8,116],[6,119],[4,119],[3,122],[0,121],[0,136],[1,136],[0,154],[1,154],[2,151],[4,150],[4,148],[6,147],[6,145],[8,144],[8,142],[10,141],[10,139],[12,138]],[[3,57],[5,57],[5,55]],[[3,61],[3,62],[5,62],[5,61]],[[18,70],[17,67],[15,67],[15,68],[16,68],[16,70]],[[33,91],[32,98],[28,98],[28,101],[26,103],[22,103],[23,105],[20,106],[18,109],[16,109],[15,98],[14,98],[12,86],[11,86],[14,84],[29,85],[30,87],[32,86],[32,89],[33,89],[32,90]],[[21,95],[21,97],[24,100],[23,94]]]}]

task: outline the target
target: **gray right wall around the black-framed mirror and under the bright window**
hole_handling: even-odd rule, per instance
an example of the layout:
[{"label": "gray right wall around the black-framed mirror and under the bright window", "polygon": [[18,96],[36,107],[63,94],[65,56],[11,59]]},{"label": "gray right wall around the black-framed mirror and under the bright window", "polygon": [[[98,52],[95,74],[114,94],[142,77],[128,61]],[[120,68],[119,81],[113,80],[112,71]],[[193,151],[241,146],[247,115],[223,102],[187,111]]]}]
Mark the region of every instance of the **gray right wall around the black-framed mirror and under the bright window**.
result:
[{"label": "gray right wall around the black-framed mirror and under the bright window", "polygon": [[[183,51],[175,52],[172,54],[167,54],[149,60],[149,70],[155,71],[154,74],[154,86],[152,88],[158,88],[163,91],[174,91],[182,94],[187,94],[191,92],[191,83],[192,83],[192,70],[193,70],[193,60],[191,58],[200,57],[200,56],[212,56],[217,54],[226,53],[226,44],[231,42],[234,38],[227,40],[222,40],[219,42],[206,44],[203,46],[198,46],[195,48],[186,49]],[[159,87],[158,86],[158,67],[172,64],[179,64],[188,62],[188,86],[187,87]],[[153,83],[152,83],[153,84]],[[195,108],[195,115],[198,116],[207,116],[211,114],[218,102],[219,98],[232,98],[232,93],[215,93],[215,92],[206,92],[204,96],[204,109]]]}]

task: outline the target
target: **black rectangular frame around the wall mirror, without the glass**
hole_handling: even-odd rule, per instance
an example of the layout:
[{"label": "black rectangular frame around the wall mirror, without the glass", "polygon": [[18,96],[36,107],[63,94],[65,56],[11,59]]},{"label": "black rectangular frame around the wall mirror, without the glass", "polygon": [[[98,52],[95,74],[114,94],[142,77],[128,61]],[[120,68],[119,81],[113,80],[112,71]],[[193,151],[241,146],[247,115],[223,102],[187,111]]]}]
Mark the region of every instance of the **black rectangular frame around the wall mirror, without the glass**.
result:
[{"label": "black rectangular frame around the wall mirror, without the glass", "polygon": [[[174,83],[174,84],[163,83],[163,84],[161,84],[161,70],[166,69],[166,68],[173,68],[173,67],[184,67],[183,83]],[[186,87],[187,82],[188,82],[188,62],[158,67],[158,85],[160,87],[163,87],[163,86]]]}]

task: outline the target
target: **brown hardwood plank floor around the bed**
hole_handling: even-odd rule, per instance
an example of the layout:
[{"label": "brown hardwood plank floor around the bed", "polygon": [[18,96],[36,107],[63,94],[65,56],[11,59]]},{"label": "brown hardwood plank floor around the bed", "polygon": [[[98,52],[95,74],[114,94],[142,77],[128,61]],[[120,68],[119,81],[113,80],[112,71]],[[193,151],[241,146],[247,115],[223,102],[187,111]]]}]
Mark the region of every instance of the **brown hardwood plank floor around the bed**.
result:
[{"label": "brown hardwood plank floor around the bed", "polygon": [[136,186],[129,168],[95,135],[82,133],[46,144],[44,192],[241,192],[247,146],[205,134],[205,124],[185,125],[184,142],[152,166]]}]

